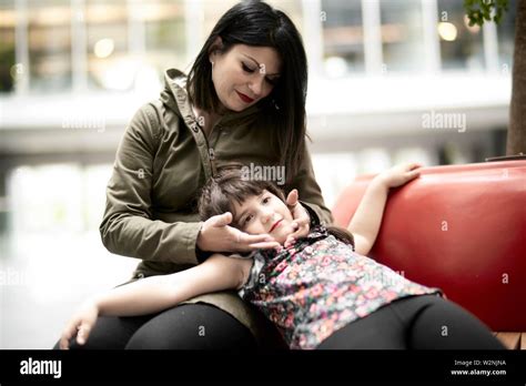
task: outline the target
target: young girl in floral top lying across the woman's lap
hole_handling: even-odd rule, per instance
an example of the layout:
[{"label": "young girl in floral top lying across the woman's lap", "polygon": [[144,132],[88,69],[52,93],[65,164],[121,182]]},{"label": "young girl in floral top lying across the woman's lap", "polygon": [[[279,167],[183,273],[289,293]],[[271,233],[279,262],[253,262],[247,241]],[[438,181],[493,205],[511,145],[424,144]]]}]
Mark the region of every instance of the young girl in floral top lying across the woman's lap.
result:
[{"label": "young girl in floral top lying across the woman's lap", "polygon": [[151,314],[229,288],[262,311],[291,348],[503,348],[483,323],[442,297],[439,288],[411,282],[365,257],[390,187],[416,177],[415,169],[401,165],[376,176],[348,232],[315,225],[300,240],[290,238],[291,209],[275,185],[245,181],[239,171],[211,179],[200,199],[200,214],[210,219],[203,226],[232,223],[249,234],[267,234],[275,248],[239,257],[214,254],[190,270],[95,296],[68,323],[61,348],[75,335],[84,344],[100,314]]}]

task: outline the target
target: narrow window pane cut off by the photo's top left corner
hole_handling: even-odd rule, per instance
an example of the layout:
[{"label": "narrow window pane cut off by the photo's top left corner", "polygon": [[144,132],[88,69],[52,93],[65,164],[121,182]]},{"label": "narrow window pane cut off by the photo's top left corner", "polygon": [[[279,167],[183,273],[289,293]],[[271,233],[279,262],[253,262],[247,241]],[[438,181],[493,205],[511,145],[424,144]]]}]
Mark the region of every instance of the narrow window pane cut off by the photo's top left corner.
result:
[{"label": "narrow window pane cut off by the photo's top left corner", "polygon": [[14,88],[14,1],[0,2],[0,92]]}]

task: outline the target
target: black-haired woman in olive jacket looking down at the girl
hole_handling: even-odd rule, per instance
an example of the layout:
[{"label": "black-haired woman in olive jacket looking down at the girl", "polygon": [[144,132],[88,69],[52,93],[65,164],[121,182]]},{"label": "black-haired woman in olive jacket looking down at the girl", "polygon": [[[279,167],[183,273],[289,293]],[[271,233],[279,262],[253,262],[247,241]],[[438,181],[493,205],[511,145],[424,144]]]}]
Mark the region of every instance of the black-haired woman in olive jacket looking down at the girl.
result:
[{"label": "black-haired woman in olive jacket looking down at the girl", "polygon": [[[226,222],[199,220],[200,189],[230,164],[284,166],[295,233],[331,223],[305,144],[306,57],[292,21],[243,2],[218,22],[186,78],[168,70],[158,101],[141,108],[119,146],[100,226],[115,254],[141,258],[133,280],[202,263],[212,252],[272,247]],[[235,292],[194,297],[155,315],[100,317],[83,348],[283,347]],[[58,347],[58,345],[55,346]],[[79,348],[74,342],[71,348]]]}]

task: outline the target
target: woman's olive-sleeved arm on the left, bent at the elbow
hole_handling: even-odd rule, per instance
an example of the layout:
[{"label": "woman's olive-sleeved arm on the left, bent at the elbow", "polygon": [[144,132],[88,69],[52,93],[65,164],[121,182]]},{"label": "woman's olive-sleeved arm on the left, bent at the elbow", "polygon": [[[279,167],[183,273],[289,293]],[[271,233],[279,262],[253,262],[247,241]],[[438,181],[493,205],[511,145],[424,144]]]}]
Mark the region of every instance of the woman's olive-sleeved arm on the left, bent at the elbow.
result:
[{"label": "woman's olive-sleeved arm on the left, bent at the elbow", "polygon": [[119,144],[107,189],[102,243],[111,253],[145,261],[198,264],[195,240],[202,223],[153,219],[153,163],[162,138],[161,111],[145,104]]}]

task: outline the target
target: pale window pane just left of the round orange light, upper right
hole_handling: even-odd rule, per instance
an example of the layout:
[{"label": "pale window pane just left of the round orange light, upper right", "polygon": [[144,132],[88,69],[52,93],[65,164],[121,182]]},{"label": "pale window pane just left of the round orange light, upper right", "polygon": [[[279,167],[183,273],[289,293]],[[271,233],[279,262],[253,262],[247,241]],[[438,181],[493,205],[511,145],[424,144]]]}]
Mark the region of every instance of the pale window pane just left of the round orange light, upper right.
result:
[{"label": "pale window pane just left of the round orange light, upper right", "polygon": [[387,71],[425,71],[419,0],[381,0],[382,50]]}]

